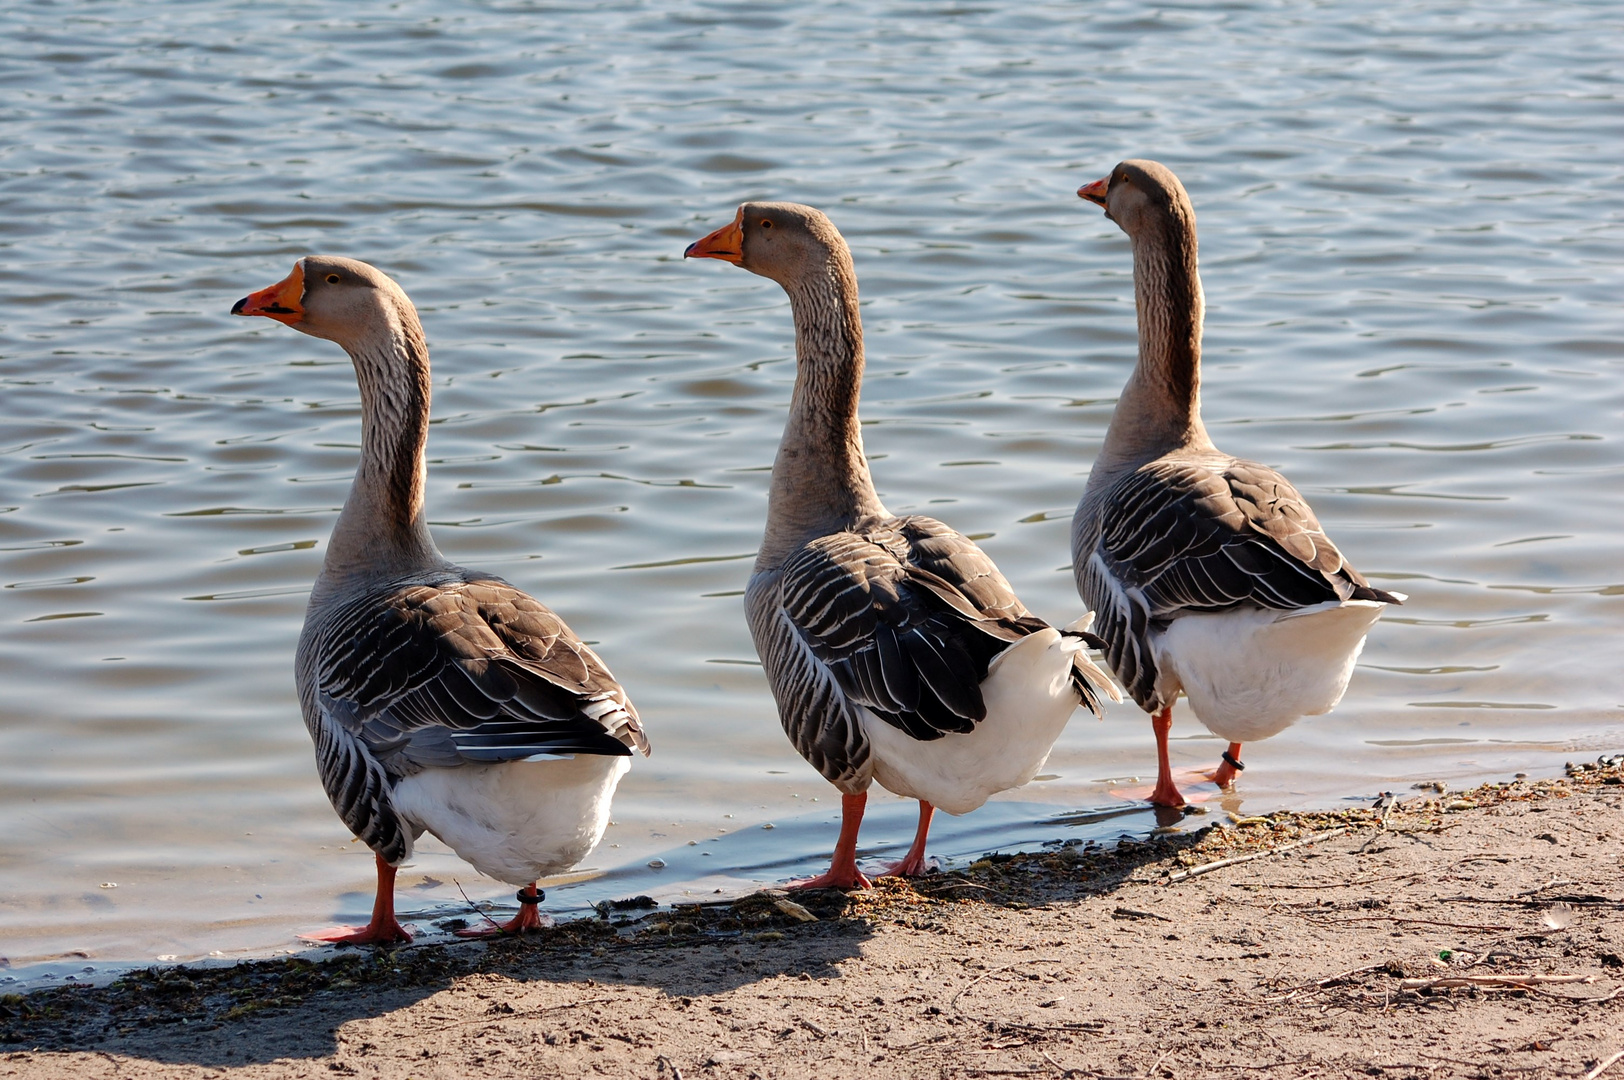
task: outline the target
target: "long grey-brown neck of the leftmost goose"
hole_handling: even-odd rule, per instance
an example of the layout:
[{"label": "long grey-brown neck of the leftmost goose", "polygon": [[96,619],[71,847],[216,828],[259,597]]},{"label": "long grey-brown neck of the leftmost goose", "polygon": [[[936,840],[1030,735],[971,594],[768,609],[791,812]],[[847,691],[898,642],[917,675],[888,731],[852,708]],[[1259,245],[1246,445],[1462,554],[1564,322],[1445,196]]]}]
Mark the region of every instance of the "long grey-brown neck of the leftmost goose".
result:
[{"label": "long grey-brown neck of the leftmost goose", "polygon": [[429,346],[411,312],[344,346],[361,385],[361,464],[328,541],[323,575],[377,577],[443,564],[424,521]]}]

